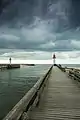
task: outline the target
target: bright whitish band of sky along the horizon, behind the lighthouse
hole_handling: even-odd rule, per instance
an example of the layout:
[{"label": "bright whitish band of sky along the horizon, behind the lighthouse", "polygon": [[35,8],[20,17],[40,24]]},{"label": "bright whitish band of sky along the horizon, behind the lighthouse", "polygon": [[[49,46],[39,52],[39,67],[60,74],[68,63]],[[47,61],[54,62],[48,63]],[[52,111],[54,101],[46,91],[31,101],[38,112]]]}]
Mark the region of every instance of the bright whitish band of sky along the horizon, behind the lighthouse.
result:
[{"label": "bright whitish band of sky along the horizon, behind the lighthouse", "polygon": [[[54,52],[45,52],[45,51],[27,51],[27,50],[0,50],[0,61],[5,60],[9,62],[9,58],[11,57],[14,62],[23,61],[27,62],[34,61],[41,62],[43,60],[45,63],[52,60],[52,55]],[[80,51],[63,51],[63,52],[55,52],[56,54],[56,63],[57,64],[79,64],[80,62]],[[39,61],[38,61],[39,60]],[[51,62],[52,64],[52,62]]]}]

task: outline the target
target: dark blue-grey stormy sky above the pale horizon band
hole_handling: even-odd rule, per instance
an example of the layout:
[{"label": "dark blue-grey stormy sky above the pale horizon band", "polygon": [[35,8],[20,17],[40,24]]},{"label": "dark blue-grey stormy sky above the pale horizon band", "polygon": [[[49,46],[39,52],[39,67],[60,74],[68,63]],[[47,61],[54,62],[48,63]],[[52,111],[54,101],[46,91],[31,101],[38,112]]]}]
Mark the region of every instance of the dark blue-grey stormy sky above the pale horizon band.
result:
[{"label": "dark blue-grey stormy sky above the pale horizon band", "polygon": [[79,0],[0,0],[0,48],[80,50]]}]

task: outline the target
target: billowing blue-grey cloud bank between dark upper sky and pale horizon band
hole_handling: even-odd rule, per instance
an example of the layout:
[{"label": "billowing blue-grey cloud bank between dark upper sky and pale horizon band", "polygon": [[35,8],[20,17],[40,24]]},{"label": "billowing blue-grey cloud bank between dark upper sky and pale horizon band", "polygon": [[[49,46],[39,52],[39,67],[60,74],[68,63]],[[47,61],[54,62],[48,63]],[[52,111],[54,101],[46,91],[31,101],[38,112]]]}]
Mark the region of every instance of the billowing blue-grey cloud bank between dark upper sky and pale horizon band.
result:
[{"label": "billowing blue-grey cloud bank between dark upper sky and pale horizon band", "polygon": [[[36,21],[37,22],[37,21]],[[52,32],[46,21],[39,22],[34,27],[30,26],[17,28],[0,29],[0,47],[15,49],[31,49],[42,51],[69,51],[79,50],[80,31],[64,31],[61,33]],[[4,31],[4,33],[3,33]],[[76,38],[76,39],[75,39]]]}]

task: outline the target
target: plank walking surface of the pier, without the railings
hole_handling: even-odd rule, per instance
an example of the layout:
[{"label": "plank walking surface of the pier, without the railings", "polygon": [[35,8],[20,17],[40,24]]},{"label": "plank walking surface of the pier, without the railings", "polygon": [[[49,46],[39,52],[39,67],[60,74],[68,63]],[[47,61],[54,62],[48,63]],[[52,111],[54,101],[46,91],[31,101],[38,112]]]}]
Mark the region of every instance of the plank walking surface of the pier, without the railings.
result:
[{"label": "plank walking surface of the pier, without the railings", "polygon": [[29,120],[80,120],[80,87],[54,67],[38,107]]}]

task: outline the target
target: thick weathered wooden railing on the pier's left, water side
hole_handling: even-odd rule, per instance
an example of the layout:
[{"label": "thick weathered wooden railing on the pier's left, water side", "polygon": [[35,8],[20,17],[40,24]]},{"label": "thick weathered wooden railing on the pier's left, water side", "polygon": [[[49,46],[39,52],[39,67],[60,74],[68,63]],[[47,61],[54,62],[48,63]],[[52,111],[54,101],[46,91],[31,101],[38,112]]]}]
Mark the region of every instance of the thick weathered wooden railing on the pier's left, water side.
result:
[{"label": "thick weathered wooden railing on the pier's left, water side", "polygon": [[41,93],[50,76],[52,67],[49,68],[48,72],[37,81],[3,120],[25,120],[28,117],[27,112],[31,109],[32,105],[35,103],[36,106],[39,103]]}]

